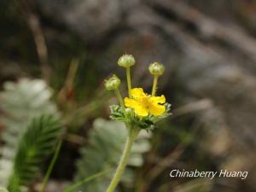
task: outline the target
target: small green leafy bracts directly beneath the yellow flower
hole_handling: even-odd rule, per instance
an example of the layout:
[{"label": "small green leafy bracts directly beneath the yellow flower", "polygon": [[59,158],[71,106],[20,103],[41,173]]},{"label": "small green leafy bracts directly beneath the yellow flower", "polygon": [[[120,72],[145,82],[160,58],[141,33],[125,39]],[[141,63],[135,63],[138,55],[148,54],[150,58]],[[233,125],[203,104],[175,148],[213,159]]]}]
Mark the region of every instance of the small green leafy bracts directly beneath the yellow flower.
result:
[{"label": "small green leafy bracts directly beneath the yellow flower", "polygon": [[171,104],[166,103],[166,112],[160,116],[148,115],[147,117],[139,117],[135,113],[125,114],[123,109],[119,105],[110,106],[110,118],[114,120],[123,121],[127,124],[137,125],[142,129],[154,129],[155,123],[159,122],[162,119],[165,119],[171,115]]}]

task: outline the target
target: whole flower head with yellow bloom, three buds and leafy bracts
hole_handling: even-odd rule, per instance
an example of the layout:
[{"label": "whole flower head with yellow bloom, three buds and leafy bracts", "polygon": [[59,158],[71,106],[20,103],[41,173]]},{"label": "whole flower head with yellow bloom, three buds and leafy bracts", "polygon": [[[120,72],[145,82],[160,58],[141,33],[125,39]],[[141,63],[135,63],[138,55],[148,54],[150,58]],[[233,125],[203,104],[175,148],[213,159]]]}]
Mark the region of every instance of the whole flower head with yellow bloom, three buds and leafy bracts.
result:
[{"label": "whole flower head with yellow bloom, three buds and leafy bracts", "polygon": [[119,105],[110,106],[111,118],[124,121],[126,125],[135,125],[142,129],[153,128],[155,123],[170,115],[171,104],[166,102],[164,95],[155,96],[158,78],[164,73],[165,67],[159,62],[149,65],[148,70],[154,76],[151,94],[144,92],[143,88],[131,88],[130,67],[136,61],[132,55],[123,55],[118,65],[126,68],[126,79],[129,96],[123,97],[119,92],[120,79],[113,75],[105,80],[107,90],[114,90]]}]

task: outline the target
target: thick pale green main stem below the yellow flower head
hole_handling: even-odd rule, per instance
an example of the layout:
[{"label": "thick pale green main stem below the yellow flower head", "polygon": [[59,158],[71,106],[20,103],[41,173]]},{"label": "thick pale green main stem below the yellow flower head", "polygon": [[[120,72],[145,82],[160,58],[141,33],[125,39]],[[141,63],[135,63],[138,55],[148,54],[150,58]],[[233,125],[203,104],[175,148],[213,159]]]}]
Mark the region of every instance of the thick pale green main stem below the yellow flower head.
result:
[{"label": "thick pale green main stem below the yellow flower head", "polygon": [[[132,128],[132,127],[131,127]],[[137,137],[138,131],[137,129],[131,129],[129,136],[126,139],[126,143],[125,143],[125,148],[123,151],[123,154],[121,156],[121,159],[119,160],[119,166],[117,167],[113,178],[111,180],[111,183],[108,186],[108,189],[106,190],[106,192],[113,192],[113,190],[116,188],[116,186],[119,183],[119,180],[125,170],[125,166],[129,157],[129,154],[131,153],[131,146],[132,143],[135,139],[135,137]]]}]

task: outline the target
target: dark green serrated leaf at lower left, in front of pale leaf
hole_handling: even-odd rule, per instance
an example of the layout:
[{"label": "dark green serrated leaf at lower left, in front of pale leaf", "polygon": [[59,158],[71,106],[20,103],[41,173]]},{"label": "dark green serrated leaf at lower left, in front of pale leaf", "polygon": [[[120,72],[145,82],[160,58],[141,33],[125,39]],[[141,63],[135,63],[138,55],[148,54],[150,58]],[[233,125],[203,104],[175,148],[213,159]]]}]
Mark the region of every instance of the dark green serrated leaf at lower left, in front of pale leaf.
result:
[{"label": "dark green serrated leaf at lower left, in front of pale leaf", "polygon": [[42,115],[32,120],[15,155],[13,172],[9,178],[10,191],[19,191],[37,177],[39,167],[49,155],[60,136],[61,125],[52,115]]}]

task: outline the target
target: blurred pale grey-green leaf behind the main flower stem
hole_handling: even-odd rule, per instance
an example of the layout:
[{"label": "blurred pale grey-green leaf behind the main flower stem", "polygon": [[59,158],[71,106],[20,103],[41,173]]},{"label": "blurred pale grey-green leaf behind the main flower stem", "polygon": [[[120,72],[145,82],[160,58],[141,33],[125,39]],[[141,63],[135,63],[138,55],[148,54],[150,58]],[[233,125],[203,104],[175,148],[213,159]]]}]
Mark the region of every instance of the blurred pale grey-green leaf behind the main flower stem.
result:
[{"label": "blurred pale grey-green leaf behind the main flower stem", "polygon": [[[95,120],[93,129],[89,132],[88,144],[80,148],[82,156],[77,162],[75,180],[81,181],[85,177],[90,177],[103,170],[109,169],[110,171],[74,191],[103,192],[108,188],[122,154],[127,135],[125,125],[121,122],[104,119]],[[148,133],[142,131],[133,144],[128,167],[121,179],[121,182],[127,184],[127,186],[133,182],[134,178],[135,172],[131,167],[142,166],[143,153],[150,149],[147,137],[149,137]]]}]

